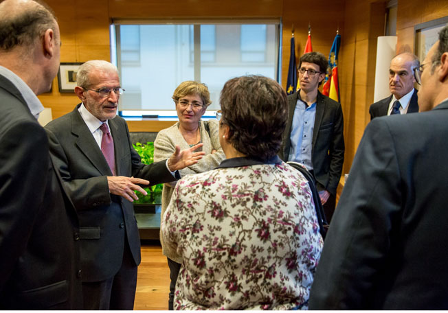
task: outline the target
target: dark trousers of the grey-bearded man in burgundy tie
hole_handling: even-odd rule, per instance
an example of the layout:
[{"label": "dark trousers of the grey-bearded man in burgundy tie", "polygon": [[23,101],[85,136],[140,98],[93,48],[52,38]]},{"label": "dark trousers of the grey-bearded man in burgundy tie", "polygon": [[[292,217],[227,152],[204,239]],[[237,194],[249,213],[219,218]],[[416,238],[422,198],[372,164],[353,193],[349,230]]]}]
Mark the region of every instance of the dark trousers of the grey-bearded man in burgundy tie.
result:
[{"label": "dark trousers of the grey-bearded man in burgundy tie", "polygon": [[105,281],[83,282],[84,310],[133,310],[137,287],[137,265],[124,240],[120,270]]}]

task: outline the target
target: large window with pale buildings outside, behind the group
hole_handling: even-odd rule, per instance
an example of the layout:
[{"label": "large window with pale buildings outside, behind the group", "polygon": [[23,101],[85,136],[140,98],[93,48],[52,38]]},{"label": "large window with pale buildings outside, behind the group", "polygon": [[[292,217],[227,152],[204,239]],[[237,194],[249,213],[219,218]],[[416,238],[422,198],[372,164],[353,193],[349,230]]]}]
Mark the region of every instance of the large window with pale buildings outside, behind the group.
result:
[{"label": "large window with pale buildings outside, behind the group", "polygon": [[185,80],[197,80],[207,84],[208,110],[216,111],[229,78],[259,74],[278,80],[279,27],[278,21],[111,25],[111,60],[126,89],[119,110],[125,117],[176,117],[172,92]]}]

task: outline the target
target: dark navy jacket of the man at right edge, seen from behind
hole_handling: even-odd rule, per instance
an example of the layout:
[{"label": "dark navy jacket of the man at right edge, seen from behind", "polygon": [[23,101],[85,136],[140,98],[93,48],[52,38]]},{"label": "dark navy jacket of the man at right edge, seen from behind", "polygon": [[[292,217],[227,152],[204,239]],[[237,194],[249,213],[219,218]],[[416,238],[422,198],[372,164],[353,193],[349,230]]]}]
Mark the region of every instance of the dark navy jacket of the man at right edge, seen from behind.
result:
[{"label": "dark navy jacket of the man at right edge, seen from behind", "polygon": [[326,235],[315,310],[448,309],[448,102],[368,124]]}]

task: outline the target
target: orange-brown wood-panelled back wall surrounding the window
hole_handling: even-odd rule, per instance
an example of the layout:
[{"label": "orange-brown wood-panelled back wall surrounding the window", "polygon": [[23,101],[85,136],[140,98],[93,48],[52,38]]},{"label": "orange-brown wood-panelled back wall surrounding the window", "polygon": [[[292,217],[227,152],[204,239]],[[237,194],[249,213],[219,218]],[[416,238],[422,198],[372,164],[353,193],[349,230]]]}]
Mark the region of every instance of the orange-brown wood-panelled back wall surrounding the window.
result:
[{"label": "orange-brown wood-panelled back wall surrounding the window", "polygon": [[[302,55],[308,24],[311,23],[313,48],[325,55],[333,43],[336,30],[343,30],[344,0],[47,0],[58,16],[62,38],[61,62],[110,60],[109,24],[113,18],[126,19],[203,19],[203,18],[281,18],[282,84],[286,84],[291,27],[295,25],[296,54]],[[344,40],[344,38],[343,38]],[[58,92],[57,79],[53,90],[39,96],[44,106],[52,108],[53,117],[73,110],[78,103],[74,94]],[[133,122],[132,130],[158,130],[166,123]]]}]

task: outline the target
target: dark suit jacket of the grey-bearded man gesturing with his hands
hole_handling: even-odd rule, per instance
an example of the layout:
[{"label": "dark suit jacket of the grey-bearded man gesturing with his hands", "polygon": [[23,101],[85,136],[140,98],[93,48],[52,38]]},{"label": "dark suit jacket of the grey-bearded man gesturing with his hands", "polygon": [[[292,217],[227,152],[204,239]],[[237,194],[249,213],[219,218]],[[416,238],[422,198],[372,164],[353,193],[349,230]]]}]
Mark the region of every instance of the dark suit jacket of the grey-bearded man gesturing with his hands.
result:
[{"label": "dark suit jacket of the grey-bearded man gesturing with his hands", "polygon": [[[140,263],[140,241],[133,204],[109,193],[107,176],[112,176],[111,169],[78,112],[79,106],[49,122],[45,129],[54,163],[78,211],[82,281],[103,281],[119,270],[124,240],[131,247],[135,264]],[[110,119],[109,128],[117,176],[146,178],[151,185],[175,180],[165,161],[151,165],[140,162],[122,117]]]}]

